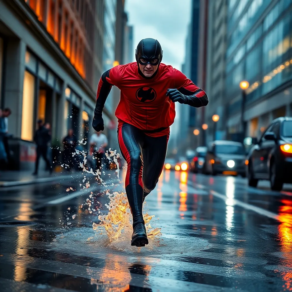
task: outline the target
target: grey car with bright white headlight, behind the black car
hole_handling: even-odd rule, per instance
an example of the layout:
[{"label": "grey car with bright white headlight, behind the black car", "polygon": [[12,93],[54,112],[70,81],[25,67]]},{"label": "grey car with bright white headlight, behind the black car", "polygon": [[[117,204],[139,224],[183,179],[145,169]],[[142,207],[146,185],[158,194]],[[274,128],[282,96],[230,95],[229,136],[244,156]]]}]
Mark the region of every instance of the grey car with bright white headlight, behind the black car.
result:
[{"label": "grey car with bright white headlight, behind the black car", "polygon": [[246,175],[246,154],[242,143],[216,140],[208,145],[205,158],[207,174]]}]

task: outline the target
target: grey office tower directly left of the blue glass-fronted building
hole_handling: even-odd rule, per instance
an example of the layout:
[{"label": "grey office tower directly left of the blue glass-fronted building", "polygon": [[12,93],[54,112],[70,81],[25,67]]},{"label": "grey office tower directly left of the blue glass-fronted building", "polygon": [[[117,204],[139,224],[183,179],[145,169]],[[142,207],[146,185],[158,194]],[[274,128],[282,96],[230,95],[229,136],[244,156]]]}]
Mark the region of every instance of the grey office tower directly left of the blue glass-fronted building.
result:
[{"label": "grey office tower directly left of the blue glass-fronted building", "polygon": [[[225,139],[225,55],[227,45],[227,0],[201,0],[199,35],[198,86],[203,88],[209,99],[206,107],[197,110],[199,141],[204,145],[214,139]],[[219,121],[214,122],[214,114]],[[202,125],[208,129],[203,130]]]}]

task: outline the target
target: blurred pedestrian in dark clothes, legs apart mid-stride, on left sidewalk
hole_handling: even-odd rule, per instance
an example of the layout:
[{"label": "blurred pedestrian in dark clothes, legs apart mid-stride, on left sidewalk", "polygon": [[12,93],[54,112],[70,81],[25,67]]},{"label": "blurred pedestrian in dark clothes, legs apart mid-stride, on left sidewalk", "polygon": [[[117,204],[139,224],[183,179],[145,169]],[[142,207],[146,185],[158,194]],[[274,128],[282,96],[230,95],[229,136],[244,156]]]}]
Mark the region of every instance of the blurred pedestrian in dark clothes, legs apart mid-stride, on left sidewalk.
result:
[{"label": "blurred pedestrian in dark clothes, legs apart mid-stride, on left sidewalk", "polygon": [[46,167],[52,173],[51,163],[48,160],[48,142],[51,140],[51,135],[47,128],[44,127],[43,121],[38,120],[38,129],[34,134],[34,142],[36,143],[36,164],[34,175],[37,175],[39,170],[39,159],[42,156],[46,161]]}]

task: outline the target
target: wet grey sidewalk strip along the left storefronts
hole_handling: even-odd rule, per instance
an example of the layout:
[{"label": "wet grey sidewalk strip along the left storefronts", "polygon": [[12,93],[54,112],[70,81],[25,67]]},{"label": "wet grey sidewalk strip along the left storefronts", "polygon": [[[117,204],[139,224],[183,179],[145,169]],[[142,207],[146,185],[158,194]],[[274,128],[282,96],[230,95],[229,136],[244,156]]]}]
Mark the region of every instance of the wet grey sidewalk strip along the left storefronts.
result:
[{"label": "wet grey sidewalk strip along the left storefronts", "polygon": [[71,176],[81,175],[81,171],[77,172],[53,172],[39,171],[38,175],[32,175],[30,171],[0,171],[0,187],[11,187],[16,185],[27,185],[34,183],[46,183],[53,180],[61,180],[71,178]]}]

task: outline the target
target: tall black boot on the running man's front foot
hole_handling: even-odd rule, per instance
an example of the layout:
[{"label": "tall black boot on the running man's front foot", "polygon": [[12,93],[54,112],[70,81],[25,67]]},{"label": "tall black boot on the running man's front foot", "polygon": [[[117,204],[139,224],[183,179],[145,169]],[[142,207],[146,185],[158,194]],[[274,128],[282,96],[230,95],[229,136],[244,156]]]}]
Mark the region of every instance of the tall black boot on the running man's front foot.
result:
[{"label": "tall black boot on the running man's front foot", "polygon": [[133,215],[133,234],[131,245],[145,246],[148,244],[148,238],[145,228],[145,222],[142,215],[143,189],[140,185],[128,185],[126,194]]}]

